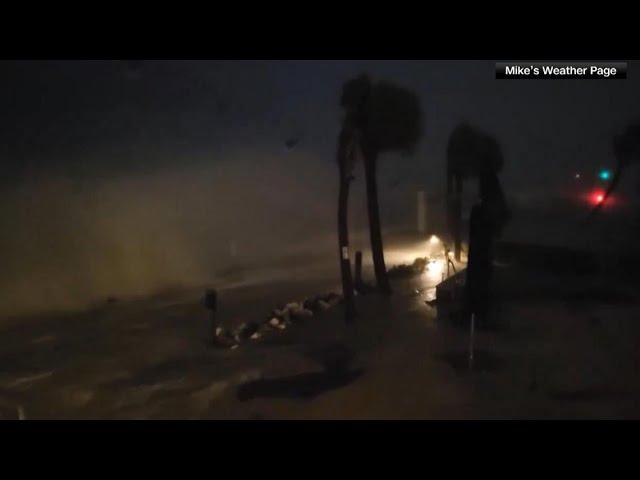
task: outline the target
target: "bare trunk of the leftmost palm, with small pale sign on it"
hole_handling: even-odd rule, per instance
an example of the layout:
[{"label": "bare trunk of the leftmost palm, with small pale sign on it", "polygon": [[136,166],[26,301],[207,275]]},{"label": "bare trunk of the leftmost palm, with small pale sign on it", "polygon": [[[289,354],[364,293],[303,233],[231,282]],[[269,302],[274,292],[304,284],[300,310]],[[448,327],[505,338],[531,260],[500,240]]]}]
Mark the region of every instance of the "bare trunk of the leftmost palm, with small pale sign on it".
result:
[{"label": "bare trunk of the leftmost palm, with small pale sign on it", "polygon": [[349,225],[348,202],[351,178],[340,167],[340,191],[338,193],[338,243],[340,256],[340,273],[342,275],[342,295],[345,304],[345,321],[351,322],[356,316],[353,303],[353,279],[351,277],[351,260],[349,259]]}]

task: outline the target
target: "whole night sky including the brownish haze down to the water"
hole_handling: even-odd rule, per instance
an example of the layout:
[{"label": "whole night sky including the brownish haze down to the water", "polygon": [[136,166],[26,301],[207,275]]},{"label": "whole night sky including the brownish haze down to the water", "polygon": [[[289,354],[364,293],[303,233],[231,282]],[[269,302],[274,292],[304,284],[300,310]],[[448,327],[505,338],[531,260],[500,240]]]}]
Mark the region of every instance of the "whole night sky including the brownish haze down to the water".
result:
[{"label": "whole night sky including the brownish haze down to the water", "polygon": [[463,120],[501,143],[507,197],[544,207],[575,172],[613,166],[612,136],[640,117],[637,67],[627,80],[497,81],[492,61],[0,62],[0,307],[28,303],[15,299],[33,285],[63,305],[200,281],[233,236],[254,251],[333,234],[338,98],[362,72],[414,90],[424,113],[417,151],[380,159],[384,224],[415,189],[441,194]]}]

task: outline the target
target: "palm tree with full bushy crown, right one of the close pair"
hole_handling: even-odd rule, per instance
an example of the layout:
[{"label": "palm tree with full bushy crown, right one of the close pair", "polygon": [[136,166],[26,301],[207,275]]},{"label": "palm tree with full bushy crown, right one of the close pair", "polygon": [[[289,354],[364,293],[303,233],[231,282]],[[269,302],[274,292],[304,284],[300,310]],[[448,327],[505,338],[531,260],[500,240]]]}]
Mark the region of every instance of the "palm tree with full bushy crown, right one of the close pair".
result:
[{"label": "palm tree with full bushy crown, right one of the close pair", "polygon": [[391,293],[384,261],[378,203],[378,156],[384,152],[411,153],[422,133],[422,112],[418,96],[402,87],[378,82],[367,103],[363,125],[362,152],[367,184],[367,211],[371,253],[378,289]]}]

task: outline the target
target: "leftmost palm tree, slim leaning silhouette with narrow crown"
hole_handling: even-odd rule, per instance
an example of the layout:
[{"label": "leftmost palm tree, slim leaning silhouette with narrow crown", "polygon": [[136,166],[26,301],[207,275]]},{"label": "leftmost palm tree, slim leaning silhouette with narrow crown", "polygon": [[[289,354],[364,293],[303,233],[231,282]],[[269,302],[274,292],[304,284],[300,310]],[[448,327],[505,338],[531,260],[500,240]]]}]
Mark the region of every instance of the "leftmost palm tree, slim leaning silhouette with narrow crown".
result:
[{"label": "leftmost palm tree, slim leaning silhouette with narrow crown", "polygon": [[342,88],[340,106],[344,109],[342,129],[338,136],[338,168],[340,188],[338,193],[338,247],[342,294],[345,302],[345,320],[352,321],[356,310],[353,302],[353,277],[349,259],[348,205],[349,187],[353,180],[353,169],[358,155],[361,155],[362,125],[365,109],[371,93],[371,81],[361,75],[348,81]]}]

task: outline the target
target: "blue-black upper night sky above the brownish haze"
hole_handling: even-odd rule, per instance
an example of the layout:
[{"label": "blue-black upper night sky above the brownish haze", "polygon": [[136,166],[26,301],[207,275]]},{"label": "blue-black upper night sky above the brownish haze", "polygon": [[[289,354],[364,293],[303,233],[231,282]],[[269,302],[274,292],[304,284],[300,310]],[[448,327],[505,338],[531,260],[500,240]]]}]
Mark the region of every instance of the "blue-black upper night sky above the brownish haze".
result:
[{"label": "blue-black upper night sky above the brownish haze", "polygon": [[628,80],[496,81],[491,61],[2,62],[0,155],[5,180],[42,167],[127,175],[247,145],[278,153],[291,136],[332,161],[340,86],[368,72],[423,103],[421,147],[394,161],[390,182],[441,178],[447,136],[466,119],[503,144],[506,182],[551,187],[612,162],[611,136],[640,114],[635,67]]}]

